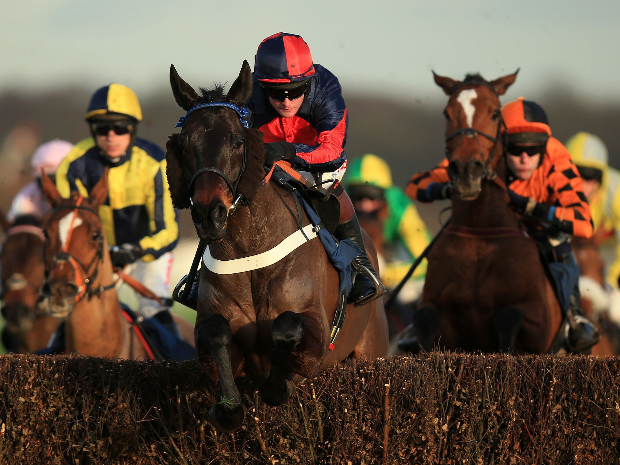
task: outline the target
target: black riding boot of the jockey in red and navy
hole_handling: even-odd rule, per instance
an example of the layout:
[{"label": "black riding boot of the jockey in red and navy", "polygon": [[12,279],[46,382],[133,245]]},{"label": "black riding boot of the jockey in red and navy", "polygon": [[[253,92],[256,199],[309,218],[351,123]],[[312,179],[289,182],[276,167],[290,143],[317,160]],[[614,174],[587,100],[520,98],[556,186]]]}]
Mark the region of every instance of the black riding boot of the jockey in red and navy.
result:
[{"label": "black riding boot of the jockey in red and navy", "polygon": [[[360,223],[357,221],[357,216],[353,216],[353,218],[345,221],[344,223],[340,223],[338,225],[338,236],[340,239],[351,239],[356,246],[360,247],[361,254],[355,257],[353,260],[353,264],[358,268],[360,273],[355,278],[355,282],[353,283],[353,290],[350,293],[350,296],[353,299],[353,303],[355,305],[364,305],[368,302],[373,301],[374,299],[378,299],[383,295],[386,291],[386,288],[383,286],[379,278],[377,277],[377,272],[374,270],[373,265],[371,265],[368,260],[368,255],[366,254],[366,247],[364,246],[364,239],[361,236]],[[374,280],[364,272],[363,268],[366,267],[368,272],[372,273],[376,282],[379,283],[379,289],[376,288]]]}]

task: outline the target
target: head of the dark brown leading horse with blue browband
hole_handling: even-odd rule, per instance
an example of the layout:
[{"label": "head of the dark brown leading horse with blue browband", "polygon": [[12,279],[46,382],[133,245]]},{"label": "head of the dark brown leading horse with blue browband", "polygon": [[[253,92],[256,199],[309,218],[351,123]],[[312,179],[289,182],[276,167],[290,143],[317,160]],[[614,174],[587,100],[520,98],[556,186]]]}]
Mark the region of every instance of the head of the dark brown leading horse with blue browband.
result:
[{"label": "head of the dark brown leading horse with blue browband", "polygon": [[212,244],[224,237],[228,215],[242,201],[252,200],[265,175],[262,135],[242,121],[242,107],[252,93],[252,71],[244,61],[228,94],[216,86],[200,89],[198,95],[171,65],[170,86],[187,112],[179,123],[182,130],[166,144],[172,203],[191,206],[198,237]]}]

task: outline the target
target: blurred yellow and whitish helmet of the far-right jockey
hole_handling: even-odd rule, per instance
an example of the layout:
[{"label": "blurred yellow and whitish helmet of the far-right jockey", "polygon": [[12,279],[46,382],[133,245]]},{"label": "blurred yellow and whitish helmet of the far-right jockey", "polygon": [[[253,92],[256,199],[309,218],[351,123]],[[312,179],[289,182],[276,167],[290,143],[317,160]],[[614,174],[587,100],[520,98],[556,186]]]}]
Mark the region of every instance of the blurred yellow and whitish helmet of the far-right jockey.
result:
[{"label": "blurred yellow and whitish helmet of the far-right jockey", "polygon": [[608,168],[609,153],[600,137],[585,132],[577,133],[566,142],[566,149],[584,179],[601,181],[600,177]]}]

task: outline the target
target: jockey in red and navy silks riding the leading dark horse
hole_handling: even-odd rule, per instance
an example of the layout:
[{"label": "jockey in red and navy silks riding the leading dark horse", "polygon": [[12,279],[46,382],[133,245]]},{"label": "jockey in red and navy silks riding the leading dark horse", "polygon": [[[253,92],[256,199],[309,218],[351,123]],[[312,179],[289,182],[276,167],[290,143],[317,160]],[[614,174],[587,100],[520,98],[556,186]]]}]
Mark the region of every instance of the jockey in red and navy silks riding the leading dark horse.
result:
[{"label": "jockey in red and navy silks riding the leading dark horse", "polygon": [[[285,160],[306,179],[322,185],[340,201],[340,239],[351,239],[362,253],[358,269],[376,271],[368,260],[353,204],[342,187],[347,169],[347,108],[340,82],[312,61],[299,35],[277,33],[260,43],[254,63],[254,86],[246,105],[247,122],[265,133],[265,166]],[[361,265],[361,267],[360,267]],[[366,273],[355,280],[352,298],[361,305],[378,298],[379,289]]]}]

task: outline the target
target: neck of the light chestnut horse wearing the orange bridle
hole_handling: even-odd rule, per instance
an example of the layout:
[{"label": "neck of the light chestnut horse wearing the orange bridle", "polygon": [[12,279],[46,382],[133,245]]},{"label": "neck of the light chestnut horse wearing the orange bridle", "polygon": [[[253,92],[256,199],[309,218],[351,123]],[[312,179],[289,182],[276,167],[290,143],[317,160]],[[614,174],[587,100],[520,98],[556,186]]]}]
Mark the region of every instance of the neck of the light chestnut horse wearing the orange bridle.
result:
[{"label": "neck of the light chestnut horse wearing the orange bridle", "polygon": [[[92,289],[108,286],[113,281],[112,262],[107,250],[107,243],[104,243],[104,257]],[[68,352],[110,358],[117,356],[122,349],[126,328],[116,289],[83,298],[75,305],[66,326]]]}]

